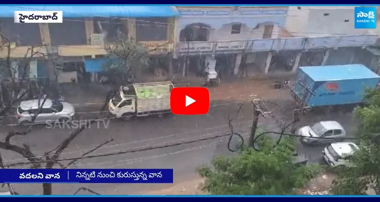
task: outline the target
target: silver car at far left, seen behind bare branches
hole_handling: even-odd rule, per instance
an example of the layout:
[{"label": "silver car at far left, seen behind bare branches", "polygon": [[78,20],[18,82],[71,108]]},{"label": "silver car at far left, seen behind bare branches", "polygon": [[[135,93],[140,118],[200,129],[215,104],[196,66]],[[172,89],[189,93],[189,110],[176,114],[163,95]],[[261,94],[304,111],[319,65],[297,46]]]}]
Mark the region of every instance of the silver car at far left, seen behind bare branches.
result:
[{"label": "silver car at far left, seen behind bare branches", "polygon": [[[42,105],[44,100],[34,99],[21,102],[17,108],[17,123],[30,124],[32,117],[39,112],[39,102]],[[46,99],[34,123],[67,122],[74,119],[74,114],[75,110],[71,104],[58,103],[53,102],[51,99]]]}]

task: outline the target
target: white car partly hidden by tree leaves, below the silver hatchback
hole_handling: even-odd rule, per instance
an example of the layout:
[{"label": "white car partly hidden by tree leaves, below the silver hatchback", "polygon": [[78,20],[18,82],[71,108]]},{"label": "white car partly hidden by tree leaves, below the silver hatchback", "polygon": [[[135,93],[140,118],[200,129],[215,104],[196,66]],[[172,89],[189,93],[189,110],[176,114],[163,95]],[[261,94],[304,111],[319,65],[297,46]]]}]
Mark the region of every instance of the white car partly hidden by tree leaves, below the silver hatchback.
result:
[{"label": "white car partly hidden by tree leaves, below the silver hatchback", "polygon": [[353,166],[346,158],[352,155],[359,147],[353,142],[336,142],[326,146],[322,151],[323,159],[331,167]]}]

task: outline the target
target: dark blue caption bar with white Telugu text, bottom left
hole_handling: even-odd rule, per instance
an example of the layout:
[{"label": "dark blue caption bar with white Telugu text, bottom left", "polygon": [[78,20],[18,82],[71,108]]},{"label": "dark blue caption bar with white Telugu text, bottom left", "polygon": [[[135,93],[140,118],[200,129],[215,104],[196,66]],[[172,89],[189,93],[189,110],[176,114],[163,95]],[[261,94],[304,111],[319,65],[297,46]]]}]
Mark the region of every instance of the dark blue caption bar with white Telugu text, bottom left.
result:
[{"label": "dark blue caption bar with white Telugu text, bottom left", "polygon": [[0,169],[0,183],[173,183],[173,169]]}]

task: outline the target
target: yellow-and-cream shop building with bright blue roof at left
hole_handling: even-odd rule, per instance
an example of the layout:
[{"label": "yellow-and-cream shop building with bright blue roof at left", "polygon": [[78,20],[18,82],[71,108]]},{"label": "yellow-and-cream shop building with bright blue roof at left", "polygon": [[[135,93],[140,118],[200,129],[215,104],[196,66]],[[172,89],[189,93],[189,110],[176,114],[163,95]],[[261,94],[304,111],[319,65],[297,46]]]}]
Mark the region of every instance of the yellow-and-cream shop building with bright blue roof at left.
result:
[{"label": "yellow-and-cream shop building with bright blue roof at left", "polygon": [[[63,11],[63,23],[14,23],[14,11]],[[24,58],[30,46],[61,61],[59,82],[83,77],[97,80],[107,54],[105,45],[115,42],[118,33],[143,44],[153,56],[166,55],[174,48],[175,7],[0,7],[0,25],[12,42],[11,57]],[[3,42],[5,40],[2,40]],[[157,48],[158,47],[158,48]],[[0,57],[7,57],[0,49]],[[36,58],[30,75],[49,77],[46,59]],[[34,63],[33,63],[34,65]],[[15,63],[17,66],[17,63]],[[49,65],[48,65],[49,66]],[[15,67],[17,68],[17,67]],[[55,68],[55,67],[53,67]],[[80,74],[83,74],[80,76]]]}]

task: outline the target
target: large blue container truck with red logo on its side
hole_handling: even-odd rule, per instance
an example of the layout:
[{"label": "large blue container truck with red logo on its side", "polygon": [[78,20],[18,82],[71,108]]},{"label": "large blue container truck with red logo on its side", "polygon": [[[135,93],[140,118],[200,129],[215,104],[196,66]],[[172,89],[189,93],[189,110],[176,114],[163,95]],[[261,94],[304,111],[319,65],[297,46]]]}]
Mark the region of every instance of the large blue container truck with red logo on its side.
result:
[{"label": "large blue container truck with red logo on its side", "polygon": [[291,92],[305,107],[359,104],[365,90],[379,82],[380,76],[364,65],[300,67]]}]

